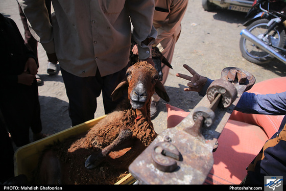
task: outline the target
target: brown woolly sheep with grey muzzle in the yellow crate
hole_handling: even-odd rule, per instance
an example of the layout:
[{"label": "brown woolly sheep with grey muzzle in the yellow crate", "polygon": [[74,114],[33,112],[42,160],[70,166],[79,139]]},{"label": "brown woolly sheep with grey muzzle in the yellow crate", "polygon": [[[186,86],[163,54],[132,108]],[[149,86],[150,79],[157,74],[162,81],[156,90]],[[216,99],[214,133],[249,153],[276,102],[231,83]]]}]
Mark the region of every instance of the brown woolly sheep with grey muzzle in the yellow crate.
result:
[{"label": "brown woolly sheep with grey muzzle in the yellow crate", "polygon": [[113,184],[157,136],[150,118],[153,93],[169,102],[158,72],[147,62],[130,66],[113,91],[114,100],[128,90],[128,99],[81,137],[47,148],[35,183]]}]

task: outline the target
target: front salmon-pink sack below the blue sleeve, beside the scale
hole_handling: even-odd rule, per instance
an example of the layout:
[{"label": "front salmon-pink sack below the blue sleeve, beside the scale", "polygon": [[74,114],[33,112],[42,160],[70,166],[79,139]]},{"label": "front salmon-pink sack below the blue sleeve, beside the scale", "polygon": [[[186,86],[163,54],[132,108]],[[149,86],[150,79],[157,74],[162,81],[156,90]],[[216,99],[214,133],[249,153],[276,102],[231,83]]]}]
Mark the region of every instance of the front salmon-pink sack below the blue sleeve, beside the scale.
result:
[{"label": "front salmon-pink sack below the blue sleeve, beside the scale", "polygon": [[260,127],[229,120],[218,139],[205,184],[240,184],[247,175],[246,167],[267,140]]}]

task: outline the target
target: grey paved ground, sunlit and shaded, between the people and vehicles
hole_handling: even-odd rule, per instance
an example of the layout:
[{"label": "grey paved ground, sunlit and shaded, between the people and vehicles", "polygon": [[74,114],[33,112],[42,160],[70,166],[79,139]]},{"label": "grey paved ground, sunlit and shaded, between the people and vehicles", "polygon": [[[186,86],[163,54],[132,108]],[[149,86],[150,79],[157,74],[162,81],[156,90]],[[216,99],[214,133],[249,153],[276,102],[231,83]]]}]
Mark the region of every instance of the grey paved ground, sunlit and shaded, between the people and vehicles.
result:
[{"label": "grey paved ground, sunlit and shaded, between the people and vehicles", "polygon": [[[23,34],[16,0],[1,0],[0,12],[12,18]],[[286,76],[286,65],[273,61],[269,64],[257,65],[248,62],[241,56],[239,50],[240,31],[245,27],[245,13],[229,10],[204,11],[199,0],[189,0],[188,9],[182,21],[181,36],[176,44],[173,70],[170,70],[165,88],[173,106],[189,111],[199,102],[200,97],[195,92],[184,92],[186,81],[175,76],[176,73],[186,73],[184,63],[192,66],[199,74],[211,79],[220,78],[224,67],[235,66],[252,73],[256,82],[266,79]],[[47,75],[47,58],[42,46],[38,45],[39,76],[43,80],[39,86],[41,118],[44,133],[56,133],[69,128],[68,100],[65,93],[61,72],[57,75]],[[58,66],[59,67],[59,66]],[[267,87],[266,87],[267,88]],[[102,99],[95,117],[104,114]],[[155,130],[160,133],[166,128],[165,102],[159,105],[160,112],[153,120]]]}]

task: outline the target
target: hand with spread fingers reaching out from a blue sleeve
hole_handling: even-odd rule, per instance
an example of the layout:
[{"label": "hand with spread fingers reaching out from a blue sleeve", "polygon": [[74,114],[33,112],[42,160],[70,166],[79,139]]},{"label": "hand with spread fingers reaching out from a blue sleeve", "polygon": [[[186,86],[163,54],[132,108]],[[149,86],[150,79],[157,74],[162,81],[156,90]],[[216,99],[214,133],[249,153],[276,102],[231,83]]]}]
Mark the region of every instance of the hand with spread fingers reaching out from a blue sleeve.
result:
[{"label": "hand with spread fingers reaching out from a blue sleeve", "polygon": [[200,92],[206,84],[207,78],[199,75],[193,68],[189,67],[188,65],[184,64],[183,66],[189,71],[190,74],[193,75],[193,77],[190,77],[184,74],[176,74],[177,77],[190,81],[187,83],[188,87],[184,88],[184,90]]}]

